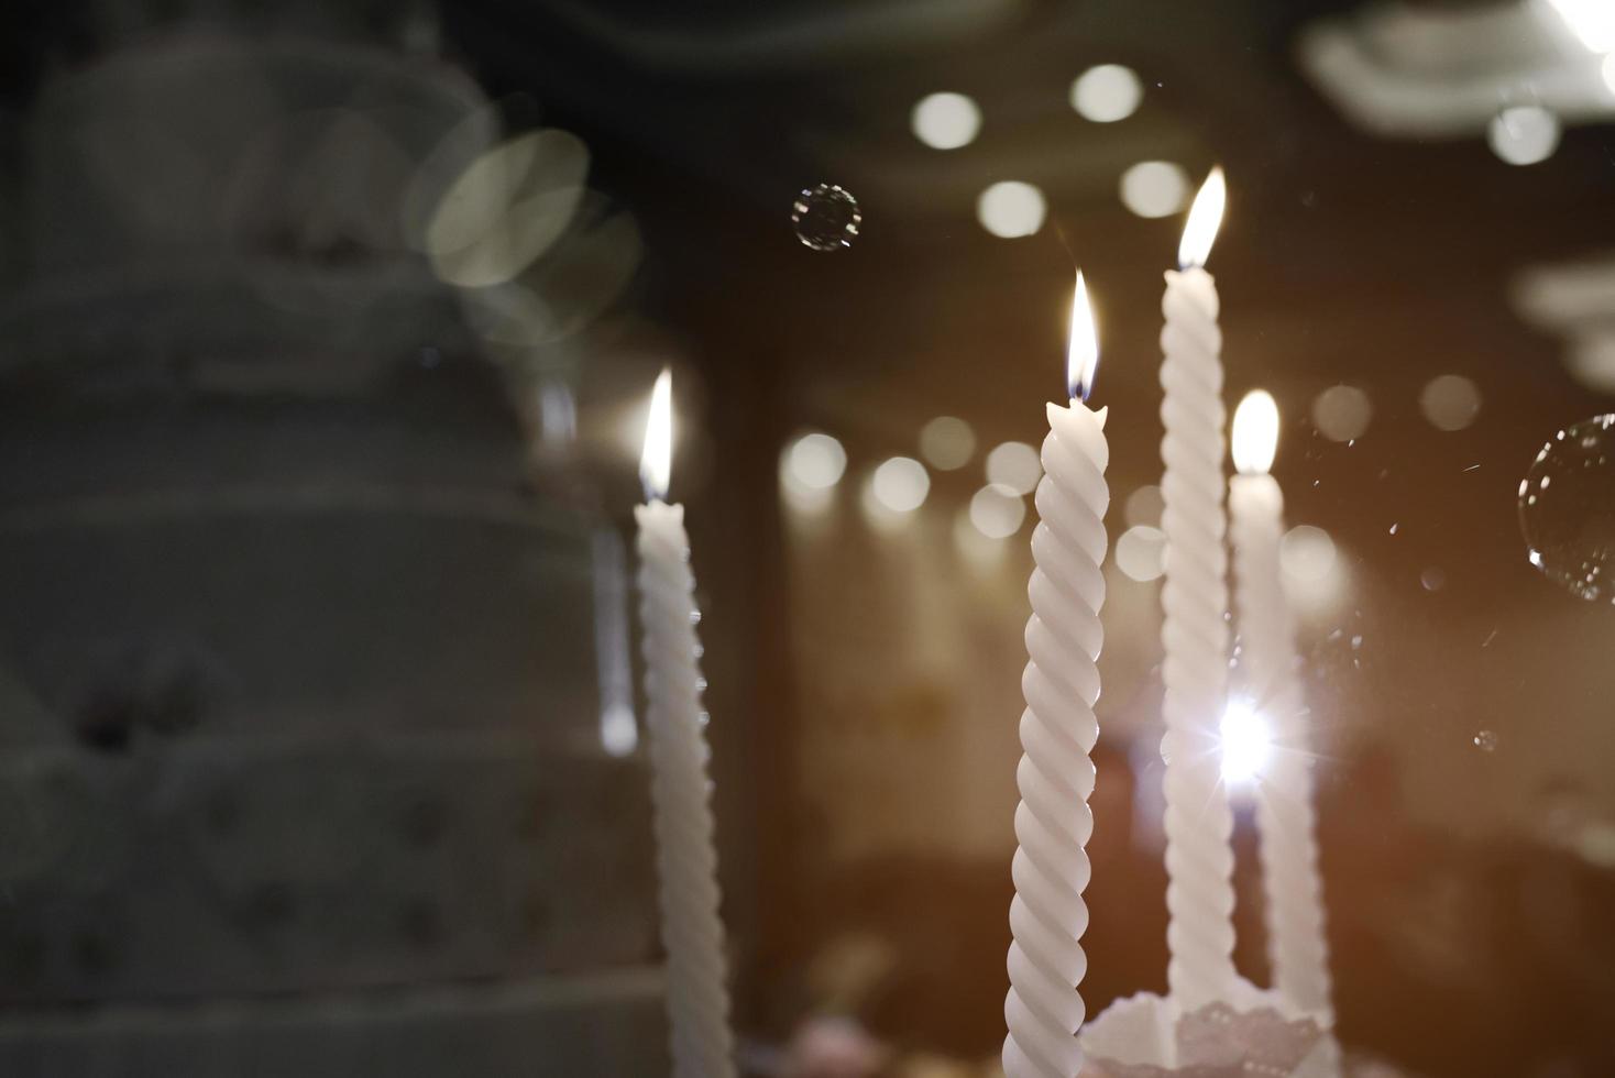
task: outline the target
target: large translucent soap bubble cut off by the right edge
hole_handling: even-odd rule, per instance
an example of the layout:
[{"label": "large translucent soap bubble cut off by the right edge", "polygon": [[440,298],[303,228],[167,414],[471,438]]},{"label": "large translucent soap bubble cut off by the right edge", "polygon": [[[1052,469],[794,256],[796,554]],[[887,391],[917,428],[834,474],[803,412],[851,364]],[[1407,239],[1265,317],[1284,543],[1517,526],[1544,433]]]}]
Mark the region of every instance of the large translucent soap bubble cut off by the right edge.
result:
[{"label": "large translucent soap bubble cut off by the right edge", "polygon": [[1615,602],[1615,415],[1554,434],[1520,481],[1526,557],[1589,602]]}]

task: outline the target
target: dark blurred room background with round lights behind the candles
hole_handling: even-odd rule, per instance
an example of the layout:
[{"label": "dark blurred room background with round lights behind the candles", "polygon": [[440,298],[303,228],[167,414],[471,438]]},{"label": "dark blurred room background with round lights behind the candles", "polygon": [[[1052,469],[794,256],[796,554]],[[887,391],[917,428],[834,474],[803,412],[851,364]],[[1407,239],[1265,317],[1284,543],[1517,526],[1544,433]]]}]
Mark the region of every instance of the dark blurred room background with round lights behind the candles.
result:
[{"label": "dark blurred room background with round lights behind the candles", "polygon": [[[1612,23],[13,5],[0,1073],[665,1073],[627,554],[662,365],[749,1065],[995,1073],[1027,447],[1079,265],[1113,452],[1084,997],[1163,989],[1156,337],[1214,163],[1342,1039],[1615,1073],[1615,460],[1570,429],[1615,394]],[[861,215],[830,250],[817,184]],[[1248,810],[1237,846],[1261,981]]]}]

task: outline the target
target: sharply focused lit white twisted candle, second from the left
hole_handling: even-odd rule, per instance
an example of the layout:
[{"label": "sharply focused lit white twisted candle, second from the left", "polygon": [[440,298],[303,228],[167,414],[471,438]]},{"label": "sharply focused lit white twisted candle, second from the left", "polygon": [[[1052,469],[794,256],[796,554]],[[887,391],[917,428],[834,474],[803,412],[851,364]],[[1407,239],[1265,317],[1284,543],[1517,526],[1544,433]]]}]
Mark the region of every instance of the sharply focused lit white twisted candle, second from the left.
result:
[{"label": "sharply focused lit white twisted candle, second from the left", "polygon": [[1093,313],[1082,274],[1071,311],[1069,407],[1048,405],[1043,479],[1037,484],[1038,524],[1032,533],[1037,568],[1027,592],[1029,662],[1021,676],[1021,805],[1014,829],[1014,900],[1009,905],[1009,996],[1005,1018],[1006,1078],[1076,1078],[1082,1049],[1076,1033],[1085,1009],[1077,984],[1089,960],[1080,938],[1089,926],[1082,891],[1089,886],[1093,831],[1089,797],[1098,737],[1093,702],[1100,694],[1095,660],[1105,637],[1105,408],[1085,400],[1098,363]]}]

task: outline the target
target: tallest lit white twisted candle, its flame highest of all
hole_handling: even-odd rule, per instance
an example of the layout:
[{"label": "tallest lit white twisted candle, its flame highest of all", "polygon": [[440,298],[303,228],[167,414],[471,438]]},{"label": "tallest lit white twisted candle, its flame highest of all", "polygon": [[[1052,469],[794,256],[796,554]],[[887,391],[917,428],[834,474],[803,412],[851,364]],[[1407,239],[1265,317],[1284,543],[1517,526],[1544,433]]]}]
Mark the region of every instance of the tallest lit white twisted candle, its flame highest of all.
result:
[{"label": "tallest lit white twisted candle, its flame highest of all", "polygon": [[1171,994],[1184,1009],[1234,988],[1234,817],[1221,784],[1218,726],[1227,691],[1227,555],[1223,547],[1223,334],[1206,255],[1226,197],[1213,169],[1184,228],[1161,308],[1161,494],[1166,583],[1166,909]]}]

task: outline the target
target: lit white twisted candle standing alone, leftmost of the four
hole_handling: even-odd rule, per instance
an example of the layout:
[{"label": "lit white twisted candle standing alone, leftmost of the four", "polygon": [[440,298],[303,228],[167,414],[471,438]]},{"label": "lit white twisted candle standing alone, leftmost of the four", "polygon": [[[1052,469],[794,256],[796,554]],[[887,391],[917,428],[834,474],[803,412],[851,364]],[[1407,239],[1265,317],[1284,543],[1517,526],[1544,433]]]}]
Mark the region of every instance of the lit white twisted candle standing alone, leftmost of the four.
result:
[{"label": "lit white twisted candle standing alone, leftmost of the four", "polygon": [[673,1078],[732,1078],[724,921],[696,663],[694,576],[685,507],[662,500],[672,473],[672,374],[651,392],[640,478],[640,621],[644,628],[646,728],[656,828],[657,897],[667,951],[667,1018]]}]

